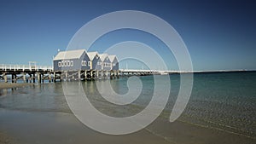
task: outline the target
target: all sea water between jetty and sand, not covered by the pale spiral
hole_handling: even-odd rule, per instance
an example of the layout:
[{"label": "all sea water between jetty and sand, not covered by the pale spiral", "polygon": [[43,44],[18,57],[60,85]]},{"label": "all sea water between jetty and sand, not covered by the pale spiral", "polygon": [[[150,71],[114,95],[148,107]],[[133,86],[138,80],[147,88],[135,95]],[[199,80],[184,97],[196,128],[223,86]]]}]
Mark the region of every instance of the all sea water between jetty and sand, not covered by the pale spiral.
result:
[{"label": "all sea water between jetty and sand, not covered by the pale spiral", "polygon": [[[140,79],[143,84],[141,94],[136,101],[125,106],[114,105],[103,99],[96,89],[96,82],[86,81],[81,84],[84,93],[99,111],[109,116],[127,117],[141,112],[154,93],[154,77],[143,76]],[[127,80],[128,78],[113,79],[110,84],[116,93],[124,95],[129,90]],[[171,93],[160,116],[163,118],[168,118],[172,112],[179,91],[180,75],[171,74],[170,80]],[[0,89],[0,108],[25,112],[72,113],[63,95],[62,83],[38,84],[22,89]],[[160,87],[164,90],[166,85]],[[256,72],[195,73],[189,103],[177,120],[255,139]]]}]

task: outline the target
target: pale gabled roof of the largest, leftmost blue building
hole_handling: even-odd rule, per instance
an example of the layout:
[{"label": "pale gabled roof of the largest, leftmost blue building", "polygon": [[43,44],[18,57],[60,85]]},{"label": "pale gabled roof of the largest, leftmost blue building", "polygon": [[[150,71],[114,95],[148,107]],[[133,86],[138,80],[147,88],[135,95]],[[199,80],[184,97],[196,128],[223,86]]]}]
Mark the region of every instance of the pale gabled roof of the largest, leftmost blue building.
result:
[{"label": "pale gabled roof of the largest, leftmost blue building", "polygon": [[84,52],[84,49],[61,51],[55,56],[54,60],[79,59]]}]

